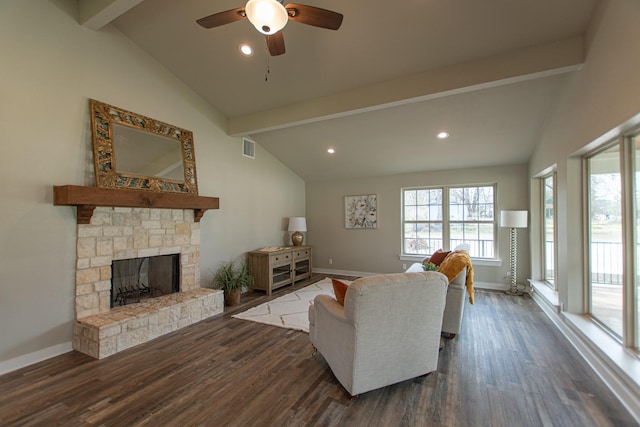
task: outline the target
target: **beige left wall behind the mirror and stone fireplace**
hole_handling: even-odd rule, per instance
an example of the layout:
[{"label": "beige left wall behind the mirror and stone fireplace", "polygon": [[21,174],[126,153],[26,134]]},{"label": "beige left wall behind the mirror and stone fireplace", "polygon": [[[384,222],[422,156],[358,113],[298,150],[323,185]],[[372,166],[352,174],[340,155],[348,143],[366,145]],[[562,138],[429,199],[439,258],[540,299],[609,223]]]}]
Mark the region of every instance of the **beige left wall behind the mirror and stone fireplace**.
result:
[{"label": "beige left wall behind the mirror and stone fireplace", "polygon": [[77,24],[75,0],[0,3],[0,371],[70,349],[76,212],[53,185],[93,185],[88,99],[193,131],[200,194],[220,197],[201,222],[201,275],[221,260],[282,244],[304,215],[304,182],[260,146],[256,159],[225,120],[115,28]]}]

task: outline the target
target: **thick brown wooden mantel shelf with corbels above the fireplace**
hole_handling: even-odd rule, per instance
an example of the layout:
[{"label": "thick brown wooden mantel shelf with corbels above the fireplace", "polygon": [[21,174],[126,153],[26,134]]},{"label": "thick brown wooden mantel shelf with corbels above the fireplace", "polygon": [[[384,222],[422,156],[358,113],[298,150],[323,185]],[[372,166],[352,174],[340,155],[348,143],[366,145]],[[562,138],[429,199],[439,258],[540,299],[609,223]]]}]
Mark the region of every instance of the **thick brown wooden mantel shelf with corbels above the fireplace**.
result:
[{"label": "thick brown wooden mantel shelf with corbels above the fireplace", "polygon": [[54,185],[53,204],[56,206],[76,206],[78,208],[78,224],[89,224],[96,206],[193,209],[195,221],[200,222],[200,218],[208,209],[220,207],[220,199],[145,190]]}]

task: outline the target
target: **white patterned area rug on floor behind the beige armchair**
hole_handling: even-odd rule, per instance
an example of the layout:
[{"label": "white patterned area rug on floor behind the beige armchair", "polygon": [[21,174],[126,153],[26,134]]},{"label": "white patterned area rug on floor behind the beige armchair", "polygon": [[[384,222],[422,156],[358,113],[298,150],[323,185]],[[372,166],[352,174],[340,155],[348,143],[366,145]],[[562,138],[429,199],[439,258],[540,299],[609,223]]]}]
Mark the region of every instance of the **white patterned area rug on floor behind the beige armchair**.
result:
[{"label": "white patterned area rug on floor behind the beige armchair", "polygon": [[[350,283],[345,281],[345,283]],[[266,323],[281,328],[309,332],[309,306],[316,295],[330,295],[335,298],[331,279],[322,279],[295,292],[278,297],[250,308],[232,317]]]}]

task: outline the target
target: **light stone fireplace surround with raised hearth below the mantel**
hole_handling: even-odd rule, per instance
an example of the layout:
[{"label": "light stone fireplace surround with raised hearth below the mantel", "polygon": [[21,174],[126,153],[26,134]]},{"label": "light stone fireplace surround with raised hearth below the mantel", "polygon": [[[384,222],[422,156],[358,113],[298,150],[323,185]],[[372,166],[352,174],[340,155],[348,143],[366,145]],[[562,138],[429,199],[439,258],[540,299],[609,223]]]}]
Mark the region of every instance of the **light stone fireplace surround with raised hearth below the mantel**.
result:
[{"label": "light stone fireplace surround with raised hearth below the mantel", "polygon": [[[78,224],[73,348],[103,358],[223,311],[200,287],[200,223],[193,209],[96,207]],[[114,260],[177,254],[179,289],[113,305]]]}]

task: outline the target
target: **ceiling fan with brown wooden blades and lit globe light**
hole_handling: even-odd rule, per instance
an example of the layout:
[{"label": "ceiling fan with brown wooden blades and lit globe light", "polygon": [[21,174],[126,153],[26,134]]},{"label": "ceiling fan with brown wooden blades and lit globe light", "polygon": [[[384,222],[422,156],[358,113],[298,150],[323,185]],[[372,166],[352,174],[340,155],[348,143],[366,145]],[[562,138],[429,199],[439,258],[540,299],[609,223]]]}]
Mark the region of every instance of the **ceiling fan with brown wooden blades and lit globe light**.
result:
[{"label": "ceiling fan with brown wooden blades and lit globe light", "polygon": [[342,14],[319,7],[290,3],[282,0],[249,0],[244,7],[214,13],[196,22],[204,28],[214,28],[247,18],[254,27],[265,35],[271,56],[282,55],[284,36],[282,29],[289,20],[314,27],[337,30],[342,24]]}]

